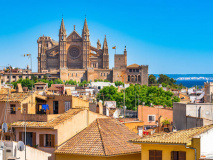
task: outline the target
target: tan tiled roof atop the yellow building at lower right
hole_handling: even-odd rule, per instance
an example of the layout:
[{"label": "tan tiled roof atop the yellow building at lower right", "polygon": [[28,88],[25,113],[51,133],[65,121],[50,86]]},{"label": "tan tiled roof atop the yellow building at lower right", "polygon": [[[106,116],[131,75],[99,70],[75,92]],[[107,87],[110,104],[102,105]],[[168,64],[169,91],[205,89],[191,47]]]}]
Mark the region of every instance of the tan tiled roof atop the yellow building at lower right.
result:
[{"label": "tan tiled roof atop the yellow building at lower right", "polygon": [[177,132],[169,132],[162,134],[154,134],[151,136],[143,137],[141,139],[132,139],[130,142],[138,143],[176,143],[187,144],[193,137],[212,129],[213,125],[191,128],[187,130],[180,130]]}]

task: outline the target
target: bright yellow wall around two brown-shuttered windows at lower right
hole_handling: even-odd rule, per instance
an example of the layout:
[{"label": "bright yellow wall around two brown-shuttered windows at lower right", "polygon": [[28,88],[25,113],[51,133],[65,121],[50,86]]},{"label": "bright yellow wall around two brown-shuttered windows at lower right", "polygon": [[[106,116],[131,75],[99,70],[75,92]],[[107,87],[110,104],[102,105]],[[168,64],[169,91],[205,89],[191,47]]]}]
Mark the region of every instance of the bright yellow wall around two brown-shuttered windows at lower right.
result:
[{"label": "bright yellow wall around two brown-shuttered windows at lower right", "polygon": [[149,159],[149,150],[162,150],[162,160],[171,160],[172,151],[185,151],[187,160],[194,160],[195,153],[193,149],[185,148],[184,145],[160,145],[160,144],[142,144],[141,160]]}]

